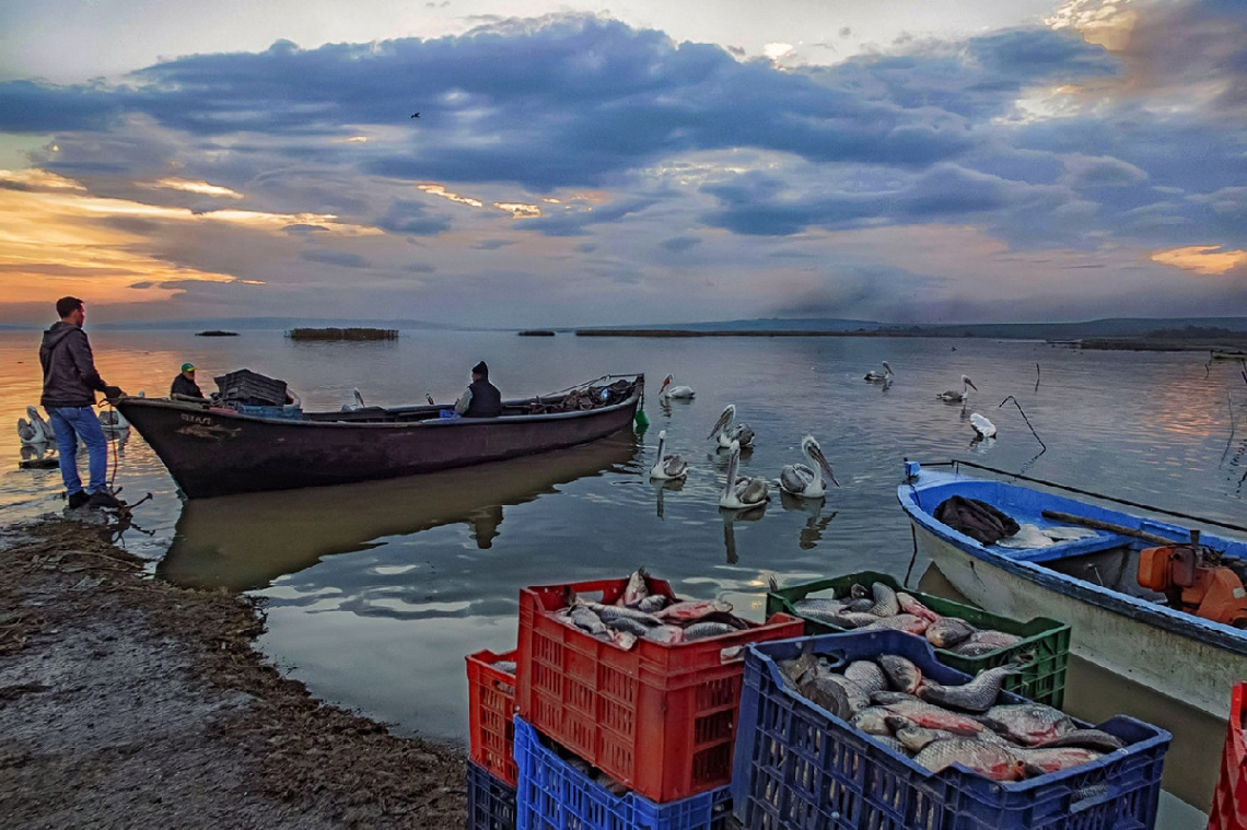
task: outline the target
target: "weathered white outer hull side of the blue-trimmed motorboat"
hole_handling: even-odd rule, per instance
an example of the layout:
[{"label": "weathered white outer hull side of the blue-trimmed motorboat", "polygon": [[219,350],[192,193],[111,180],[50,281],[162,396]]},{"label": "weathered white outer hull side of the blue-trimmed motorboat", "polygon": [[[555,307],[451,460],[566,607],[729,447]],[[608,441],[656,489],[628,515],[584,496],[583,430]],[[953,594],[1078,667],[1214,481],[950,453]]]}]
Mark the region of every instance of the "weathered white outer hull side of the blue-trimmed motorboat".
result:
[{"label": "weathered white outer hull side of the blue-trimmed motorboat", "polygon": [[1247,678],[1247,654],[1176,634],[1010,573],[918,528],[918,552],[970,602],[1014,619],[1070,624],[1070,652],[1115,674],[1225,719],[1226,689]]}]

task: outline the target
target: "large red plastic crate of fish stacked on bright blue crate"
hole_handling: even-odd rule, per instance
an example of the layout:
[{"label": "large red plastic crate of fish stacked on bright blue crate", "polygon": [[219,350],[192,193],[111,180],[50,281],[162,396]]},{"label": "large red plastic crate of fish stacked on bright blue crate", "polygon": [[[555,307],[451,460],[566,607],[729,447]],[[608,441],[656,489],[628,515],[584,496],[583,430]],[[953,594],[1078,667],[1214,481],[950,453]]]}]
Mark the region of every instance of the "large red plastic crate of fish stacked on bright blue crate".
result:
[{"label": "large red plastic crate of fish stacked on bright blue crate", "polygon": [[[520,591],[520,717],[657,804],[732,780],[746,643],[799,637],[804,622],[774,614],[746,631],[690,643],[638,639],[625,651],[564,623],[567,588],[614,603],[627,580]],[[675,598],[671,586],[650,589]],[[734,653],[725,659],[723,649]]]}]

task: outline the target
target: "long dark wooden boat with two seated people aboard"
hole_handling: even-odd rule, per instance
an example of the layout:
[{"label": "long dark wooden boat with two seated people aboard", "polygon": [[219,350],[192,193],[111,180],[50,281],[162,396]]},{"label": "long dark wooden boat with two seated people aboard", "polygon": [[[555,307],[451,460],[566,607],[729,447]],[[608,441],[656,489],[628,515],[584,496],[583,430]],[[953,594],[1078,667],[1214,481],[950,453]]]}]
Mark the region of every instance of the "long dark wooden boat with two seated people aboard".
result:
[{"label": "long dark wooden boat with two seated people aboard", "polygon": [[503,401],[499,417],[448,417],[436,405],[291,416],[291,408],[249,414],[152,398],[125,398],[117,409],[182,494],[206,498],[394,479],[587,444],[630,427],[643,394],[645,375],[635,374]]}]

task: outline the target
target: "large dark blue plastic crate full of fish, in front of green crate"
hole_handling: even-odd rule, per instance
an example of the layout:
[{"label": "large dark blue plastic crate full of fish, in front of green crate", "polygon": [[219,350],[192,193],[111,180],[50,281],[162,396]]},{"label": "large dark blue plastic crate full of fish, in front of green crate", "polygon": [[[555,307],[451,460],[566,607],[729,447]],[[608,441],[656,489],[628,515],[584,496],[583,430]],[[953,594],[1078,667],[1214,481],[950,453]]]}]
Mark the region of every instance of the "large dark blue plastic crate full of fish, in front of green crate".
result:
[{"label": "large dark blue plastic crate full of fish, in front of green crate", "polygon": [[[732,804],[752,830],[1140,830],[1155,826],[1170,734],[1119,715],[1099,727],[1125,749],[1025,781],[998,783],[950,768],[933,773],[789,689],[777,661],[809,643],[852,662],[913,661],[924,677],[965,683],[930,643],[894,631],[752,643],[736,737]],[[1001,703],[1023,698],[1001,693]],[[1081,722],[1079,722],[1081,723]],[[1089,724],[1082,724],[1089,725]]]}]

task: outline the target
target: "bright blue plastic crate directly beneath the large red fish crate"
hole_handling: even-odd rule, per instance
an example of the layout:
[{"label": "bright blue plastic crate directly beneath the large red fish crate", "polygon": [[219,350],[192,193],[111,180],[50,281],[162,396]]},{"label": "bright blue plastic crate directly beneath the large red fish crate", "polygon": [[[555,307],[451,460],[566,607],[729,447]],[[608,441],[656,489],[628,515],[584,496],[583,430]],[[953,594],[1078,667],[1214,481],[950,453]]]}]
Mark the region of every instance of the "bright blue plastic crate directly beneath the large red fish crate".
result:
[{"label": "bright blue plastic crate directly beneath the large red fish crate", "polygon": [[726,830],[727,786],[655,804],[636,793],[612,795],[542,743],[515,717],[516,828],[519,830]]}]

